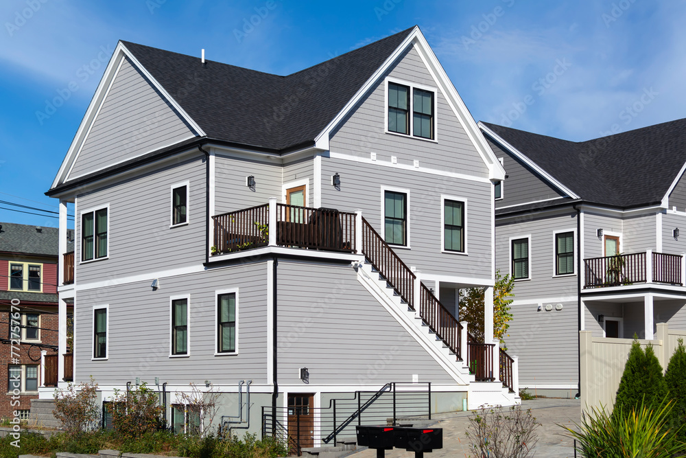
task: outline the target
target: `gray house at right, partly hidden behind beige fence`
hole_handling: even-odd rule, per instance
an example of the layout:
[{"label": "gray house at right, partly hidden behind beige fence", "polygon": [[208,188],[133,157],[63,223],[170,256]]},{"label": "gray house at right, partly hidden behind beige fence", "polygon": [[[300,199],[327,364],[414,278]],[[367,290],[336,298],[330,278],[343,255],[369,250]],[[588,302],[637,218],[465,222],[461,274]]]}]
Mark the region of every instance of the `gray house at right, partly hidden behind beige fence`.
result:
[{"label": "gray house at right, partly hidden behind beige fence", "polygon": [[575,396],[580,330],[686,330],[686,119],[583,142],[479,125],[508,174],[496,266],[515,276],[521,387]]}]

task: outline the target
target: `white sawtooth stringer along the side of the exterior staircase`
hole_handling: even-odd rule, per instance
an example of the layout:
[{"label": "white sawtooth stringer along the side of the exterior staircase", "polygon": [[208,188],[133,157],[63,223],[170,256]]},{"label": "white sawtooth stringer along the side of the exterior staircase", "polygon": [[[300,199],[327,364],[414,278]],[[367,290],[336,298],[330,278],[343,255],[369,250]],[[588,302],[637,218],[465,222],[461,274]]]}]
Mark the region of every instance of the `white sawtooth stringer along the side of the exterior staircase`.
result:
[{"label": "white sawtooth stringer along the side of the exterior staircase", "polygon": [[394,319],[400,323],[412,338],[431,355],[434,360],[455,380],[458,385],[468,387],[474,382],[474,376],[469,374],[469,368],[464,367],[462,361],[458,361],[456,354],[438,339],[438,336],[424,325],[418,312],[409,310],[400,296],[389,288],[386,279],[379,279],[379,273],[372,271],[371,264],[367,262],[354,263],[357,271],[357,280],[369,293],[379,301]]}]

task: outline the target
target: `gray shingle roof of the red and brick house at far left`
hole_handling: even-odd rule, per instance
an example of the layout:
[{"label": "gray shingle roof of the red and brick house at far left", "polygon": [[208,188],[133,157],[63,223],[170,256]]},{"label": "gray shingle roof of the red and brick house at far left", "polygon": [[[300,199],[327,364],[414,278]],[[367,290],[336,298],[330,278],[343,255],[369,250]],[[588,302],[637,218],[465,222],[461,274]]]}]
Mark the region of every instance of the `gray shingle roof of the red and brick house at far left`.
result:
[{"label": "gray shingle roof of the red and brick house at far left", "polygon": [[56,227],[0,222],[0,252],[57,256],[59,230]]}]

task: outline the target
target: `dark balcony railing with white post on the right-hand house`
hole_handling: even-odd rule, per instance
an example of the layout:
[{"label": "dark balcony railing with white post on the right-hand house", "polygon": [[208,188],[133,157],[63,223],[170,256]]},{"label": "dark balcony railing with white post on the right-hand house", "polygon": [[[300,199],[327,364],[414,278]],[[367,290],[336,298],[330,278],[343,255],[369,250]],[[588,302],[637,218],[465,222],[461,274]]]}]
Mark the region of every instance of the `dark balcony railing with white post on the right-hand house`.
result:
[{"label": "dark balcony railing with white post on the right-hand house", "polygon": [[667,253],[627,253],[584,260],[584,289],[667,284],[683,286],[683,256]]}]

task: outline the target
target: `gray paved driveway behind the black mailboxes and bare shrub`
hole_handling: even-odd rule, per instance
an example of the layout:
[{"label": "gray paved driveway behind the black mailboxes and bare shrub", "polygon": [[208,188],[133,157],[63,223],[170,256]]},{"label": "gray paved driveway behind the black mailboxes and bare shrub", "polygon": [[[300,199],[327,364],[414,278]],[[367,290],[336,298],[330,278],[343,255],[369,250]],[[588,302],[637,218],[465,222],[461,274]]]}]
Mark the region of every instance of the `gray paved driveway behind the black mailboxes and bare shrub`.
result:
[{"label": "gray paved driveway behind the black mailboxes and bare shrub", "polygon": [[[531,409],[536,422],[539,442],[534,448],[534,457],[570,458],[574,456],[573,439],[565,437],[565,430],[557,426],[573,426],[580,421],[581,404],[573,399],[534,399],[522,401],[524,409]],[[441,413],[436,415],[432,426],[443,428],[443,448],[427,453],[426,458],[469,457],[469,439],[464,435],[469,426],[472,412]],[[364,450],[350,455],[353,458],[376,458],[376,450]],[[388,458],[410,458],[414,452],[386,450]]]}]

